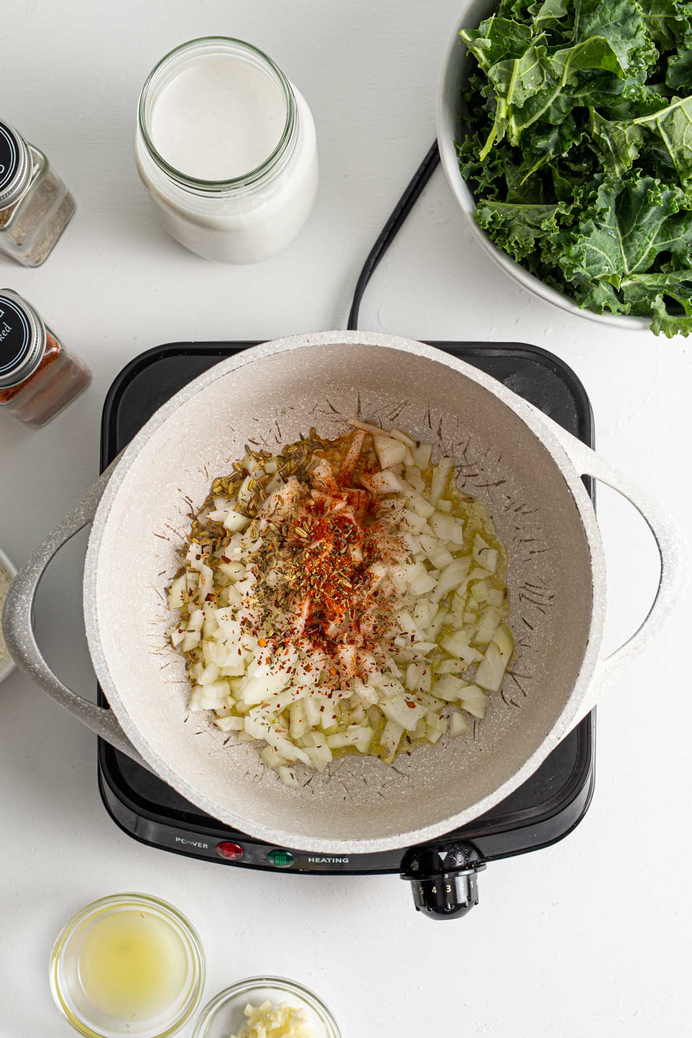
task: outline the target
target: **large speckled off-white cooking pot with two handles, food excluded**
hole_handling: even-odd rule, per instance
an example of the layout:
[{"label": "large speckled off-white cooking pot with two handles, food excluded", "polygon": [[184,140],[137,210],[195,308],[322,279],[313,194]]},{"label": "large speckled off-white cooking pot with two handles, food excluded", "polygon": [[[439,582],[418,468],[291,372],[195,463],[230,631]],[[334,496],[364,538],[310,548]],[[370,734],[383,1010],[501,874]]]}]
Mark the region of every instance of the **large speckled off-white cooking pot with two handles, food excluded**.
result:
[{"label": "large speckled off-white cooking pot with two handles, food excluded", "polygon": [[[334,762],[300,790],[226,743],[210,721],[185,723],[184,661],[167,648],[164,589],[177,569],[190,498],[206,496],[244,444],[332,436],[356,412],[453,450],[459,485],[488,506],[509,549],[517,659],[504,698],[490,696],[475,737],[417,749],[397,767]],[[600,657],[603,546],[581,481],[614,487],[641,512],[662,561],[638,633]],[[34,638],[32,603],[57,549],[92,522],[84,572],[89,651],[110,711],[66,688]],[[681,547],[656,503],[499,382],[409,339],[367,332],[297,335],[217,364],[165,404],[21,569],[4,631],[19,665],[90,729],[202,811],[278,846],[381,851],[428,840],[507,796],[591,709],[615,670],[657,629],[675,597]],[[300,771],[300,769],[299,769]],[[307,775],[305,776],[307,780]]]}]

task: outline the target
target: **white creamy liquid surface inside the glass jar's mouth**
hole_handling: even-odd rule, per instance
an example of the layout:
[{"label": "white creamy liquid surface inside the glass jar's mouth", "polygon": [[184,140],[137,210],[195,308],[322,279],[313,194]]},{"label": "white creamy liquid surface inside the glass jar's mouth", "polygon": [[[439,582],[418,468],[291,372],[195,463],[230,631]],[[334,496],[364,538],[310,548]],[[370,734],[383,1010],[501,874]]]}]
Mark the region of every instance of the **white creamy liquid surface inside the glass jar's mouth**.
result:
[{"label": "white creamy liquid surface inside the glass jar's mouth", "polygon": [[151,140],[174,169],[227,181],[256,169],[279,142],[285,99],[255,65],[232,55],[197,57],[157,98]]}]

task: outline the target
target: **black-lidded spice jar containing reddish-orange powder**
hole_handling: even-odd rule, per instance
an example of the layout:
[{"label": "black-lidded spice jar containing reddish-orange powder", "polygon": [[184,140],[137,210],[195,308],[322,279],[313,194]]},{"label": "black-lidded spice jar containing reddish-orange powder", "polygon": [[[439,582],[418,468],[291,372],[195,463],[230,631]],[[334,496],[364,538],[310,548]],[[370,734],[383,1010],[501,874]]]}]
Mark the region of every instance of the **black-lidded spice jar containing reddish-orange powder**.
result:
[{"label": "black-lidded spice jar containing reddish-orange powder", "polygon": [[31,303],[0,290],[0,407],[39,429],[91,381],[86,364],[67,353]]}]

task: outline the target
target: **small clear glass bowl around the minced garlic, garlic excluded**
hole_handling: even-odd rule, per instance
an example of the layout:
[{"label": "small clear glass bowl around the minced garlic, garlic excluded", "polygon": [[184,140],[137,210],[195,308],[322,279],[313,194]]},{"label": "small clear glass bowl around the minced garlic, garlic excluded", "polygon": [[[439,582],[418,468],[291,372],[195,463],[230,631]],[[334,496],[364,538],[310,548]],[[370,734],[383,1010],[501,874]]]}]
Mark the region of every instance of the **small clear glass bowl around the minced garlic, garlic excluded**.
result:
[{"label": "small clear glass bowl around the minced garlic, garlic excluded", "polygon": [[228,1038],[243,1033],[248,1003],[261,1006],[265,1002],[280,1005],[287,1002],[295,1009],[304,1009],[314,1038],[340,1038],[341,1033],[324,1002],[314,991],[284,977],[249,977],[225,988],[209,1002],[192,1032],[192,1038]]}]

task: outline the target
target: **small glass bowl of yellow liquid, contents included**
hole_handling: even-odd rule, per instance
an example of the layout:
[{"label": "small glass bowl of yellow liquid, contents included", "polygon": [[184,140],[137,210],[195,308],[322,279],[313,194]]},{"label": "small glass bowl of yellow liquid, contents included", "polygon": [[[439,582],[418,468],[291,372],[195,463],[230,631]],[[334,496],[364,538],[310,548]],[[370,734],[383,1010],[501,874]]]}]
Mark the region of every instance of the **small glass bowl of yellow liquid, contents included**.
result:
[{"label": "small glass bowl of yellow liquid, contents included", "polygon": [[51,955],[58,1009],[87,1038],[165,1038],[187,1023],[204,987],[204,953],[176,908],[118,894],[82,908]]}]

